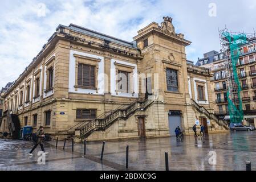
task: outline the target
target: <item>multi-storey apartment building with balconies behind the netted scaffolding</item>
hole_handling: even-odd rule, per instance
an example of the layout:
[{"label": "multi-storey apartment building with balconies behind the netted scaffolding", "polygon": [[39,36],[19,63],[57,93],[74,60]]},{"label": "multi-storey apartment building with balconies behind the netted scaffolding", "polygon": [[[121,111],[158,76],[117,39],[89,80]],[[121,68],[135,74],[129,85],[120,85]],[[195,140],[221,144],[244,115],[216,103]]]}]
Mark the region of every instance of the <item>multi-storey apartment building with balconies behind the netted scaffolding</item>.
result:
[{"label": "multi-storey apartment building with balconies behind the netted scaffolding", "polygon": [[[240,93],[243,106],[243,124],[256,126],[256,71],[255,38],[248,39],[246,44],[238,48],[239,60],[237,60],[237,73],[242,91]],[[208,61],[206,61],[208,60]],[[227,103],[227,79],[226,62],[223,52],[211,51],[206,53],[203,59],[198,59],[196,65],[209,68],[213,74],[211,82],[214,88],[214,113],[220,118],[229,121]],[[225,115],[225,116],[224,116]]]}]

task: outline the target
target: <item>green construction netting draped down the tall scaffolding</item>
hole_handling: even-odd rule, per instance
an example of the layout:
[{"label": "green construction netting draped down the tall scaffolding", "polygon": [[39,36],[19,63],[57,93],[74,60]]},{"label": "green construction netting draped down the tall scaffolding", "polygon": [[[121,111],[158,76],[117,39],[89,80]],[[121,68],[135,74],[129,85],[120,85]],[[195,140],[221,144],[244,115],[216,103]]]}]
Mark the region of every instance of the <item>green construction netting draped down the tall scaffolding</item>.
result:
[{"label": "green construction netting draped down the tall scaffolding", "polygon": [[230,49],[230,59],[232,63],[231,74],[234,76],[234,82],[237,84],[237,100],[239,102],[238,106],[235,106],[234,98],[230,98],[230,93],[233,92],[233,85],[229,86],[229,92],[227,92],[227,101],[228,101],[228,108],[229,108],[229,115],[230,115],[230,122],[231,123],[241,123],[243,120],[243,108],[242,108],[242,100],[240,96],[241,92],[241,85],[239,82],[239,77],[237,74],[237,62],[239,60],[239,51],[238,48],[241,44],[247,43],[247,38],[245,34],[238,34],[233,35],[229,32],[223,32],[224,39],[229,42],[229,49]]}]

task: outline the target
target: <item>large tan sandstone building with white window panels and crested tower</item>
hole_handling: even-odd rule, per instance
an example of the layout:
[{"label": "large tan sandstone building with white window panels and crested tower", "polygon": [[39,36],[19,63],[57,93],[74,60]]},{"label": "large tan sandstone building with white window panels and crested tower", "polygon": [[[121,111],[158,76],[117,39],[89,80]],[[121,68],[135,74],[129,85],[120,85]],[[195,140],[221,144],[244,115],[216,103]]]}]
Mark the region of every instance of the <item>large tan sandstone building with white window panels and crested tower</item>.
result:
[{"label": "large tan sandstone building with white window panels and crested tower", "polygon": [[14,114],[21,126],[76,140],[168,137],[177,126],[191,134],[195,122],[226,131],[213,114],[208,69],[186,60],[189,44],[169,17],[133,42],[60,25],[5,92],[1,130]]}]

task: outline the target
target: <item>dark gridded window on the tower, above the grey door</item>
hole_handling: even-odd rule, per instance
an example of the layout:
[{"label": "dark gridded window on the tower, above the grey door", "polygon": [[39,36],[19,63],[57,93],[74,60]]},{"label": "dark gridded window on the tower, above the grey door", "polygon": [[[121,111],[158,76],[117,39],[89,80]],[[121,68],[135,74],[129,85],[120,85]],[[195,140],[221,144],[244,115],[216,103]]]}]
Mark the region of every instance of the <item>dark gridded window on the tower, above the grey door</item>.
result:
[{"label": "dark gridded window on the tower, above the grey door", "polygon": [[167,90],[178,92],[178,72],[175,69],[166,68]]}]

